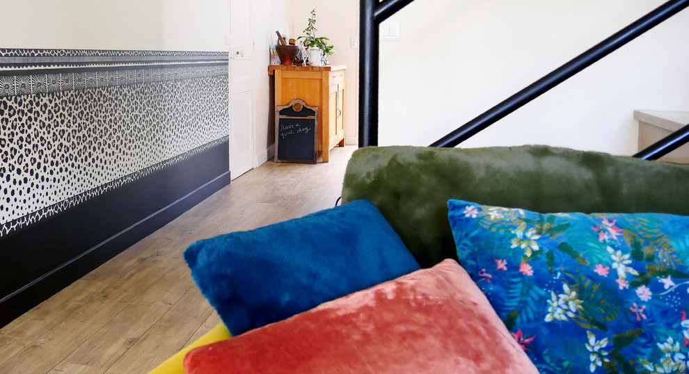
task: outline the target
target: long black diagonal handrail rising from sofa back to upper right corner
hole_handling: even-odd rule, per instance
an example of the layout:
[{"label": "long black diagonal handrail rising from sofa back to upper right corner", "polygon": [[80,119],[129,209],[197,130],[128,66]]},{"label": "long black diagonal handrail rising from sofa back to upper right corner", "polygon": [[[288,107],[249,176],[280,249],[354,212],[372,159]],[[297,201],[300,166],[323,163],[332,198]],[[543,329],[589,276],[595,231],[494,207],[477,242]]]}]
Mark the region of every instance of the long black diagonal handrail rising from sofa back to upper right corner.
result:
[{"label": "long black diagonal handrail rising from sofa back to upper right corner", "polygon": [[556,70],[553,70],[550,74],[535,81],[527,88],[505,99],[505,101],[502,101],[500,104],[493,106],[493,108],[482,115],[475,117],[458,129],[448,133],[448,135],[443,136],[443,138],[431,144],[431,147],[455,147],[459,145],[459,143],[464,142],[464,140],[486,129],[486,127],[489,127],[491,124],[498,122],[502,117],[505,117],[509,113],[521,108],[529,101],[543,95],[551,88],[566,81],[574,74],[584,70],[601,58],[608,56],[612,51],[631,42],[631,40],[634,40],[637,36],[642,35],[646,31],[653,29],[656,25],[665,21],[665,19],[672,17],[688,6],[689,0],[667,1],[667,3],[659,6],[651,13],[637,19],[637,21],[621,29],[621,31],[611,35],[609,38],[603,40],[603,42],[596,44],[583,54],[580,54],[569,61],[569,63],[558,67]]}]

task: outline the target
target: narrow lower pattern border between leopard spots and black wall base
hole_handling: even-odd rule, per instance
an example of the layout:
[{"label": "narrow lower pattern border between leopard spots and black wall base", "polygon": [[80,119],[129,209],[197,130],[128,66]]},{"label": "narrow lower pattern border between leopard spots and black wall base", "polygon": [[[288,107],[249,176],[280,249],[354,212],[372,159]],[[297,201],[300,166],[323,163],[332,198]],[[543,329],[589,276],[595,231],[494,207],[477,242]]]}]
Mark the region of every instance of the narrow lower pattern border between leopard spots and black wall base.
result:
[{"label": "narrow lower pattern border between leopard spots and black wall base", "polygon": [[101,186],[92,188],[84,193],[80,193],[79,195],[70,197],[67,200],[62,200],[61,202],[57,202],[56,204],[47,206],[43,209],[40,209],[39,211],[35,211],[31,214],[27,214],[26,216],[22,216],[15,220],[3,223],[0,226],[0,238],[24,227],[29,227],[34,223],[39,222],[40,220],[44,220],[45,218],[54,216],[55,214],[60,213],[61,211],[65,211],[66,209],[81,204],[82,202],[85,202],[86,200],[89,200],[93,197],[102,195],[103,193],[106,193],[110,190],[114,190],[115,188],[124,186],[129,182],[136,181],[137,179],[141,179],[142,177],[153,174],[158,170],[162,170],[168,166],[175,165],[176,163],[187,160],[192,156],[196,156],[197,154],[200,154],[201,152],[204,152],[207,149],[211,149],[213,147],[216,147],[217,145],[222,145],[223,143],[230,143],[230,136],[223,136],[222,138],[213,140],[212,142],[206,143],[205,145],[201,145],[200,147],[191,149],[188,152],[184,152],[183,154],[179,154],[173,158],[168,158],[165,161],[161,161],[155,165],[151,165],[148,168],[137,170],[136,172],[125,175],[125,177],[121,177],[114,181],[110,181],[106,184],[102,184]]}]

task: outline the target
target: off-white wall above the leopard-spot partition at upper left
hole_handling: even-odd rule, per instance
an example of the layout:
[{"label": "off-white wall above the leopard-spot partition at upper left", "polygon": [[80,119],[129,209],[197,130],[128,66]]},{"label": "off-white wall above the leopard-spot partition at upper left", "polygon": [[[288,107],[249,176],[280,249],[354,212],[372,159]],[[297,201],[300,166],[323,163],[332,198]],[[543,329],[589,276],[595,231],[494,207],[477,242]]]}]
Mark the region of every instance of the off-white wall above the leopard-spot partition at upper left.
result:
[{"label": "off-white wall above the leopard-spot partition at upper left", "polygon": [[226,51],[228,0],[0,0],[1,48]]}]

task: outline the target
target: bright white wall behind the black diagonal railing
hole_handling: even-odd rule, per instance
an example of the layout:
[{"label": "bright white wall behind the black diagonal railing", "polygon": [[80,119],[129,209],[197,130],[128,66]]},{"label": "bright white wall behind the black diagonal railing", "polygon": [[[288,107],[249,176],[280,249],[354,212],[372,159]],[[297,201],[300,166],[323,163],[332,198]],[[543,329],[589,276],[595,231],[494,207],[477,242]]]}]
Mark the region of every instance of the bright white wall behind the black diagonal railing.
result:
[{"label": "bright white wall behind the black diagonal railing", "polygon": [[[416,0],[381,42],[380,145],[429,145],[663,2]],[[689,111],[688,66],[684,10],[461,147],[633,154],[633,110]]]}]

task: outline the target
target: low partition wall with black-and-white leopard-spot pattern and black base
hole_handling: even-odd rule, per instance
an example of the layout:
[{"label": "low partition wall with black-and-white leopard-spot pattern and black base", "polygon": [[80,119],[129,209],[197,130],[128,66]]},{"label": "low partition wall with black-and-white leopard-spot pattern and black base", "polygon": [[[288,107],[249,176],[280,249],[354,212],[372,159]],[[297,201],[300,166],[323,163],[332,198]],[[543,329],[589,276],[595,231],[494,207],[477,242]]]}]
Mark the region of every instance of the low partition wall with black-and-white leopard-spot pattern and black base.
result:
[{"label": "low partition wall with black-and-white leopard-spot pattern and black base", "polygon": [[0,49],[0,327],[230,183],[228,62]]}]

